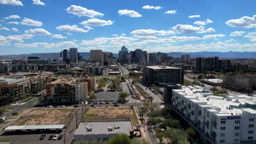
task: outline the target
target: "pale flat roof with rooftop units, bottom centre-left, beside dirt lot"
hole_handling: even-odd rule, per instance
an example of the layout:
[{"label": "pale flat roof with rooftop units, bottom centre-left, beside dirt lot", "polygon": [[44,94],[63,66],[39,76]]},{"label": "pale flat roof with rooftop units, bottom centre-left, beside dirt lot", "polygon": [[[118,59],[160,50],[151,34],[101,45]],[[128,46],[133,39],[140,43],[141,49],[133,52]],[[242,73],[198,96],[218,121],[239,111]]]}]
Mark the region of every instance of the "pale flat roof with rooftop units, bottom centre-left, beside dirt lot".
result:
[{"label": "pale flat roof with rooftop units, bottom centre-left, beside dirt lot", "polygon": [[[87,131],[86,127],[92,125],[92,130]],[[115,126],[120,125],[119,129],[114,129]],[[113,130],[109,131],[108,127],[112,127]],[[99,134],[119,134],[125,133],[130,135],[132,129],[131,121],[110,121],[110,122],[82,122],[79,124],[78,129],[74,135],[99,135]]]}]

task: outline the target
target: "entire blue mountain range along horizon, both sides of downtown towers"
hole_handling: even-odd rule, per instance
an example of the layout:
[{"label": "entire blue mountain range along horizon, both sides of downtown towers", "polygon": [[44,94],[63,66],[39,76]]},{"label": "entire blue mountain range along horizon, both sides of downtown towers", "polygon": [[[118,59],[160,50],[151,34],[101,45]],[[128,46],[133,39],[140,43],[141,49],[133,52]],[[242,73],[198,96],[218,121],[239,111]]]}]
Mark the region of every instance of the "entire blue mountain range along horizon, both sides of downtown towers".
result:
[{"label": "entire blue mountain range along horizon, both sides of downtown towers", "polygon": [[[210,52],[210,51],[202,51],[202,52],[169,52],[168,56],[172,56],[174,58],[181,57],[184,54],[190,55],[191,58],[194,57],[214,57],[218,56],[220,58],[256,58],[256,52]],[[90,57],[90,52],[79,52],[79,55],[83,58]],[[118,53],[113,53],[114,57],[118,57]],[[40,57],[40,58],[59,58],[59,52],[51,52],[51,53],[30,53],[30,54],[21,54],[21,55],[3,55],[0,56],[0,59],[27,59],[27,57]]]}]

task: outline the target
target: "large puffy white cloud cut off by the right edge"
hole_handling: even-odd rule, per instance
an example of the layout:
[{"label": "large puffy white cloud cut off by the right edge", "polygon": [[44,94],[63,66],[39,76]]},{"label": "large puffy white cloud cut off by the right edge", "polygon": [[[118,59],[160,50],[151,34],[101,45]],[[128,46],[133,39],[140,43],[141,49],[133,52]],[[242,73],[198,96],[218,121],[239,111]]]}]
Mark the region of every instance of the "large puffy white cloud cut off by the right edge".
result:
[{"label": "large puffy white cloud cut off by the right edge", "polygon": [[253,15],[253,17],[243,16],[240,19],[228,20],[226,21],[226,25],[231,27],[253,28],[256,27],[256,15]]}]

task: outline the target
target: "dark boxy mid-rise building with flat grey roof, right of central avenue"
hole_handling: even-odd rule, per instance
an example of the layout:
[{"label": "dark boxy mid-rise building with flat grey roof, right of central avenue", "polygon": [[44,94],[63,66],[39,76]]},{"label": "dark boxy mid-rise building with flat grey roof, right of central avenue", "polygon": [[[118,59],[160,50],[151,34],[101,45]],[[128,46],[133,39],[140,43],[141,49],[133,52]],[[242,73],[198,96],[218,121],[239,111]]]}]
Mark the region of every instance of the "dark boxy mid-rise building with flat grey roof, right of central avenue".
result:
[{"label": "dark boxy mid-rise building with flat grey roof, right of central avenue", "polygon": [[158,83],[178,83],[182,84],[184,81],[184,70],[181,68],[167,67],[167,66],[147,66],[143,68],[143,79],[148,85]]}]

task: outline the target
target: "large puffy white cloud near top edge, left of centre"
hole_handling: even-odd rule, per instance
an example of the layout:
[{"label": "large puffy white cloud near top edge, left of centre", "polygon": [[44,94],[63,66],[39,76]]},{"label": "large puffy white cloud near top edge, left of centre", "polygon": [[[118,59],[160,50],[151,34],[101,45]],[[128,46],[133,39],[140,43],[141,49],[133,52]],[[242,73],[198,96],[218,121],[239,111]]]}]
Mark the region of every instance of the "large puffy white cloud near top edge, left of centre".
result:
[{"label": "large puffy white cloud near top edge, left of centre", "polygon": [[104,16],[104,14],[99,13],[98,11],[86,9],[86,8],[80,7],[78,5],[71,5],[66,10],[69,14],[77,15],[79,17],[80,16],[88,16],[88,17],[93,18],[96,16]]}]

